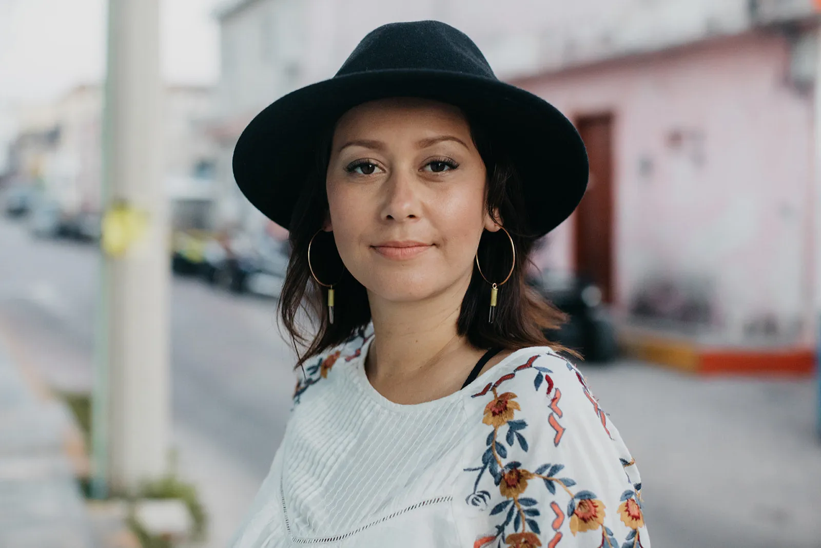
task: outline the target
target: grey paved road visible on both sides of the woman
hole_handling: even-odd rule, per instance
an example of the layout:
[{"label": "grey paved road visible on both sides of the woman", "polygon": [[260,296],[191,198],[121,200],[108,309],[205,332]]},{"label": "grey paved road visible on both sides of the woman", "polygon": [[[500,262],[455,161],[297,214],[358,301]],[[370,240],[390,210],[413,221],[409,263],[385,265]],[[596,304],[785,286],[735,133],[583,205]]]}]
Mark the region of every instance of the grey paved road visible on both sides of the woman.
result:
[{"label": "grey paved road visible on both sides of the woman", "polygon": [[[0,328],[64,388],[90,383],[94,247],[0,221]],[[172,287],[175,443],[213,514],[236,526],[284,429],[291,352],[271,301]],[[703,380],[628,361],[582,366],[639,462],[654,546],[819,548],[811,380]]]}]

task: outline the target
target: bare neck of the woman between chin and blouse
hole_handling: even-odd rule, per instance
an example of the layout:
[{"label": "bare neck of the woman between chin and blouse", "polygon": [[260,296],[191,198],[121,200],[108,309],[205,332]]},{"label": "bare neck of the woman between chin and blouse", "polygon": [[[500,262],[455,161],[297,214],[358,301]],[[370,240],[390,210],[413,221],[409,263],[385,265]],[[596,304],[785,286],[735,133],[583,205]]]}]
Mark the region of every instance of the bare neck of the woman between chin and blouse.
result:
[{"label": "bare neck of the woman between chin and blouse", "polygon": [[424,375],[442,361],[473,350],[456,333],[470,278],[421,301],[390,302],[369,293],[374,343],[367,358],[370,376],[402,380]]}]

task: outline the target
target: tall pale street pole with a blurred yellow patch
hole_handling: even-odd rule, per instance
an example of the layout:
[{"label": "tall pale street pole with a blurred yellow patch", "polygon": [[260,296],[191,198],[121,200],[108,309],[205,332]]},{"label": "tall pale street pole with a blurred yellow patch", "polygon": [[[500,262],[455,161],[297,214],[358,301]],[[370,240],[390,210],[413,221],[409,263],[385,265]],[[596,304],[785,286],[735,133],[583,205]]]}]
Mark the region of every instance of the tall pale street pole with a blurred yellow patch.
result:
[{"label": "tall pale street pole with a blurred yellow patch", "polygon": [[[109,0],[94,486],[167,472],[167,204],[158,0]],[[95,493],[97,494],[97,493]]]}]

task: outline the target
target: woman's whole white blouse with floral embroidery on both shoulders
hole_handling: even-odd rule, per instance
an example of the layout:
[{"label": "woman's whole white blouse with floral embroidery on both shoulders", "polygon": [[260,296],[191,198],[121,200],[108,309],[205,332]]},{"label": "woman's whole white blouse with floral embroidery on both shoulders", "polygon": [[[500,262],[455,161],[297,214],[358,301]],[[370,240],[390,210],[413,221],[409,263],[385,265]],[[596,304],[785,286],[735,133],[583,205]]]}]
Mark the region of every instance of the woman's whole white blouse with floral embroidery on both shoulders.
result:
[{"label": "woman's whole white blouse with floral embroidery on both shoulders", "polygon": [[297,370],[234,548],[650,548],[635,462],[571,363],[523,348],[401,405],[365,375],[370,333]]}]

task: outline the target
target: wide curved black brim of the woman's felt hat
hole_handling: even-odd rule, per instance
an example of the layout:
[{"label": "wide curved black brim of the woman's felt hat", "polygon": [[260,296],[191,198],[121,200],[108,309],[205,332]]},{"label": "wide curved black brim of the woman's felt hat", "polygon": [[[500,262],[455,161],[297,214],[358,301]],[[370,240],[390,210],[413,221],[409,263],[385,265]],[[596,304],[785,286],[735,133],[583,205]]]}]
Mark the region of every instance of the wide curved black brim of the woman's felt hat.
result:
[{"label": "wide curved black brim of the woman's felt hat", "polygon": [[502,81],[429,70],[337,76],[277,99],[236,142],[236,184],[268,219],[289,228],[319,131],[356,105],[387,97],[435,99],[478,116],[511,154],[525,194],[529,232],[536,236],[567,219],[585,194],[585,144],[553,105]]}]

